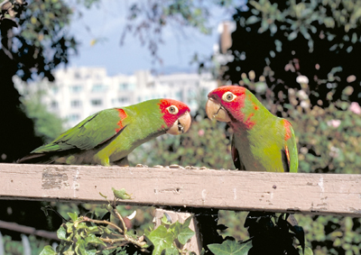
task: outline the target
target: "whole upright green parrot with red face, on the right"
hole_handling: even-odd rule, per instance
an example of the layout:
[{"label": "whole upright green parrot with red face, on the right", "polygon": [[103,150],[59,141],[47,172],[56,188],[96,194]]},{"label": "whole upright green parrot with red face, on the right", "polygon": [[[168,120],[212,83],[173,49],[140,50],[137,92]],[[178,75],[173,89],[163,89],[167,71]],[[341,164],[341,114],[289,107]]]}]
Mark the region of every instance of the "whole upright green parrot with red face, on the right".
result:
[{"label": "whole upright green parrot with red face, on the right", "polygon": [[271,114],[245,87],[212,90],[206,112],[209,119],[232,127],[231,151],[236,168],[297,172],[298,153],[291,123]]}]

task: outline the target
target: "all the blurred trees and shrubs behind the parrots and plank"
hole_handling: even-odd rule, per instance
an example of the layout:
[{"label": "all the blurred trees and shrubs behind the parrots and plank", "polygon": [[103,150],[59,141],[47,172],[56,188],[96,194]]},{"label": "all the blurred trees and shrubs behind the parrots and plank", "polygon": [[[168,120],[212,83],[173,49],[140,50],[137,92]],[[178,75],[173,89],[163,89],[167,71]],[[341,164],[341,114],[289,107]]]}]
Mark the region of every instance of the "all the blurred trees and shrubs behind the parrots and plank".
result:
[{"label": "all the blurred trees and shrubs behind the parrots and plank", "polygon": [[[77,1],[85,6],[97,2]],[[60,132],[49,129],[50,122],[46,120],[52,117],[42,112],[36,99],[32,101],[36,96],[21,99],[12,78],[17,74],[23,80],[34,77],[51,80],[51,71],[60,63],[67,63],[77,49],[77,41],[65,30],[72,15],[66,2],[33,0],[27,4],[13,5],[14,14],[5,14],[2,8],[0,16],[0,116],[2,120],[11,120],[0,128],[0,160],[5,162],[14,161]],[[361,174],[361,77],[357,65],[361,56],[361,1],[258,0],[235,6],[231,0],[212,1],[208,5],[202,1],[164,0],[162,4],[134,2],[121,37],[131,34],[143,40],[157,59],[164,25],[177,23],[179,27],[194,26],[208,32],[206,21],[211,5],[233,9],[236,31],[232,33],[231,48],[225,52],[230,60],[219,63],[213,58],[213,62],[202,62],[200,67],[219,67],[220,83],[249,88],[273,114],[292,122],[300,172]],[[19,27],[14,33],[16,25]],[[193,113],[188,133],[162,136],[144,144],[134,150],[131,162],[234,169],[229,140],[232,131],[225,124],[210,122],[204,113],[206,98],[198,100],[204,102]],[[61,220],[55,215],[41,215],[40,206],[45,204],[1,203],[1,220],[50,231],[60,225]],[[47,205],[64,217],[69,211],[86,214],[88,209],[95,209],[95,205]],[[135,219],[129,222],[137,231],[142,232],[152,223],[152,208],[123,206],[121,210],[125,215],[137,211]],[[360,254],[359,218],[301,214],[296,217],[314,254]],[[222,233],[237,240],[247,237],[244,221],[244,212],[220,212],[219,223],[229,227]],[[20,246],[16,246],[20,235],[3,233],[12,236],[4,237],[5,254],[22,254]],[[30,240],[34,247],[46,242],[35,241],[35,237]],[[34,248],[32,254],[36,252]]]}]

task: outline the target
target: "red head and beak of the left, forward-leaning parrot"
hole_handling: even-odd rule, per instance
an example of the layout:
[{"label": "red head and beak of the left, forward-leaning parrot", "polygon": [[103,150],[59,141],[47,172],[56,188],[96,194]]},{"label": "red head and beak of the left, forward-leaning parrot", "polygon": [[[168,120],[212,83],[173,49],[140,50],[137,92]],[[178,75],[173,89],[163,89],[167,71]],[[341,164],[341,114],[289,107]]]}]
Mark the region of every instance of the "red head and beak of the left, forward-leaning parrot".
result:
[{"label": "red head and beak of the left, forward-leaning parrot", "polygon": [[159,105],[164,123],[168,127],[167,133],[178,135],[190,129],[191,118],[188,105],[174,99],[161,99]]}]

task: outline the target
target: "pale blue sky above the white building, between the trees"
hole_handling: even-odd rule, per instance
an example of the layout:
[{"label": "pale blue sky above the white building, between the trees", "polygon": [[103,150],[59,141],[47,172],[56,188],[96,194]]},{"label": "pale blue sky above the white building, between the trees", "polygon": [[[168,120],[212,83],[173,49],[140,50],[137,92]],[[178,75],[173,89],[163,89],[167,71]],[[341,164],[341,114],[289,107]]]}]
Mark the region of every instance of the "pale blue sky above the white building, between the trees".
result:
[{"label": "pale blue sky above the white building, between the trees", "polygon": [[[218,23],[231,18],[231,14],[219,8],[212,10],[209,24],[213,30],[210,35],[201,34],[193,28],[185,28],[183,34],[167,26],[163,31],[164,43],[159,47],[162,64],[154,64],[150,51],[131,34],[120,46],[127,5],[128,1],[108,0],[106,5],[102,2],[89,10],[81,9],[83,17],[74,19],[70,27],[70,32],[80,42],[79,55],[70,59],[70,67],[104,67],[109,75],[133,74],[138,69],[155,69],[159,73],[184,69],[196,71],[196,65],[190,66],[191,57],[195,52],[199,56],[210,56],[213,45],[218,42]],[[101,40],[91,46],[94,39]]]}]

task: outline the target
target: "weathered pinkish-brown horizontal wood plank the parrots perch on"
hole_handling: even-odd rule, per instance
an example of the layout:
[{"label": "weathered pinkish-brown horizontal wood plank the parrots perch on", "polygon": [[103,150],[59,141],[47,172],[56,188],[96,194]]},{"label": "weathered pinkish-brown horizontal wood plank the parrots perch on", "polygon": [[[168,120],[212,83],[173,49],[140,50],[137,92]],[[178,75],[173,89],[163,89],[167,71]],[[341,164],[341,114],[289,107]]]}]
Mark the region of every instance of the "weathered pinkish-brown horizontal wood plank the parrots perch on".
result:
[{"label": "weathered pinkish-brown horizontal wood plank the parrots perch on", "polygon": [[101,203],[125,187],[127,204],[361,217],[361,175],[0,164],[0,179],[0,199]]}]

